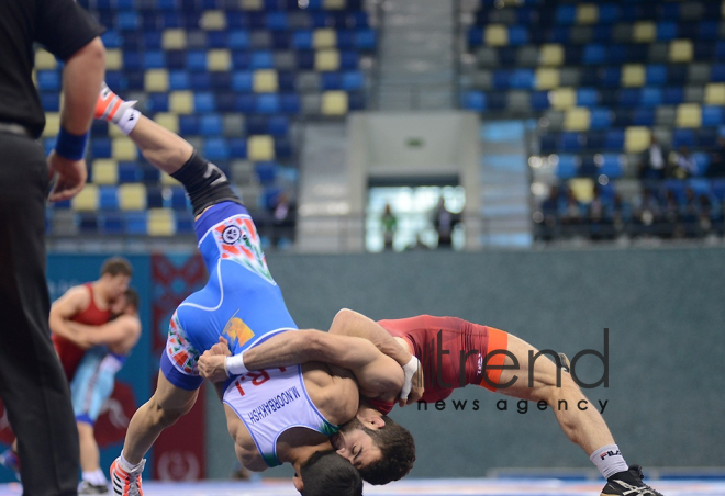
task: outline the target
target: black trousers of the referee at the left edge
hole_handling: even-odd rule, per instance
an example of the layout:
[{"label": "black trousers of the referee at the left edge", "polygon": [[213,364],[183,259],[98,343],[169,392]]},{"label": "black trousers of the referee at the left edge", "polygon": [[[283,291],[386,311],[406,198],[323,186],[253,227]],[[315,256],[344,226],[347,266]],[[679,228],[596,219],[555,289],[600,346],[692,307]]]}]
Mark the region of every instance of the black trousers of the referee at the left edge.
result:
[{"label": "black trousers of the referee at the left edge", "polygon": [[48,329],[45,154],[0,134],[0,397],[19,441],[24,496],[76,495],[78,430]]}]

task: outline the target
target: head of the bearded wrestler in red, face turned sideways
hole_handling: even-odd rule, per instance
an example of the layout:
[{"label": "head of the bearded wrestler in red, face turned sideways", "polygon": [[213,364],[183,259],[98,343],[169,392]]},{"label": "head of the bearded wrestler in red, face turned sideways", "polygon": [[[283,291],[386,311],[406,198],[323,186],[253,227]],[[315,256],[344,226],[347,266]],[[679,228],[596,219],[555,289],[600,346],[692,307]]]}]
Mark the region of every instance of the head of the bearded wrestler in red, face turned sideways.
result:
[{"label": "head of the bearded wrestler in red, face turned sideways", "polygon": [[337,454],[370,484],[398,481],[415,462],[415,441],[410,431],[372,408],[360,408],[330,440]]}]

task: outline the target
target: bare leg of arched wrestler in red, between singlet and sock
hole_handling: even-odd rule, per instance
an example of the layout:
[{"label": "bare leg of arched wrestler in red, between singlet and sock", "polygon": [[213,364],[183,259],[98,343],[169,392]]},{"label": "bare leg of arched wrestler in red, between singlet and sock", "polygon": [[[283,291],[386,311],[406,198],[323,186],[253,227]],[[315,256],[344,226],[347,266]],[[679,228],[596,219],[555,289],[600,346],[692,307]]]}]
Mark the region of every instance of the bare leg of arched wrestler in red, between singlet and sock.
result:
[{"label": "bare leg of arched wrestler in red, between singlet and sock", "polygon": [[[589,401],[573,382],[571,375],[561,372],[546,356],[539,356],[534,361],[531,376],[533,384],[529,387],[529,351],[536,356],[538,350],[512,335],[509,335],[507,350],[516,357],[518,368],[503,370],[499,384],[506,384],[513,380],[514,375],[518,379],[512,386],[499,390],[500,393],[531,402],[546,402],[554,409],[556,419],[567,437],[579,444],[587,455],[591,455],[603,446],[614,444],[614,438],[606,427],[606,422],[599,410],[589,405]],[[506,357],[505,365],[513,367],[513,360]],[[560,377],[560,382],[558,382],[558,377]],[[567,405],[566,408],[565,405]],[[588,407],[582,412],[579,405],[588,405]]]}]

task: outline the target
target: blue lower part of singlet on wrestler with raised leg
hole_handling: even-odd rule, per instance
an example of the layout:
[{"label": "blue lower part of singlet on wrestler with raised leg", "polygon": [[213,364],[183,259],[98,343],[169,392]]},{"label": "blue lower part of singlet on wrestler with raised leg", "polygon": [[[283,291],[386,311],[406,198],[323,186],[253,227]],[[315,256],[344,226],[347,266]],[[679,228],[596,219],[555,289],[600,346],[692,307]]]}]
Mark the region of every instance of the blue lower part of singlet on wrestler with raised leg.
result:
[{"label": "blue lower part of singlet on wrestler with raised leg", "polygon": [[209,282],[174,313],[161,356],[166,379],[189,391],[201,386],[197,361],[220,336],[230,342],[232,354],[238,354],[276,334],[298,328],[269,273],[257,229],[244,206],[219,203],[199,217],[196,230]]}]

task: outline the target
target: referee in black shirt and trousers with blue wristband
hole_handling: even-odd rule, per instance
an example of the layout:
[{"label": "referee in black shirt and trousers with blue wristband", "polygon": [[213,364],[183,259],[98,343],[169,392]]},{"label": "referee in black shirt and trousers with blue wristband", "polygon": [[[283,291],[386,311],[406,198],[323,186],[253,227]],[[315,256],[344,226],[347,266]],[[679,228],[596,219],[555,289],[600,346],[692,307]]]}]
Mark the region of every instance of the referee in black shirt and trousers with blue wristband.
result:
[{"label": "referee in black shirt and trousers with blue wristband", "polygon": [[[51,343],[45,201],[78,193],[104,78],[102,27],[74,0],[0,0],[0,397],[18,436],[24,496],[77,495],[78,430]],[[55,151],[37,138],[45,116],[33,84],[33,43],[63,70]]]}]

